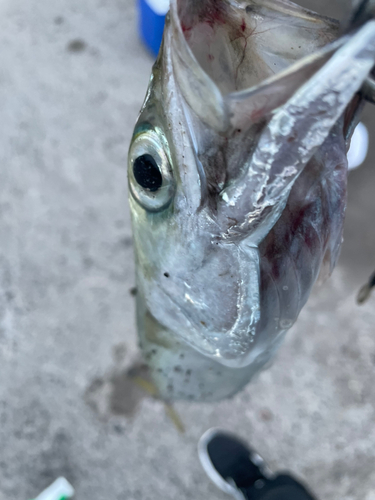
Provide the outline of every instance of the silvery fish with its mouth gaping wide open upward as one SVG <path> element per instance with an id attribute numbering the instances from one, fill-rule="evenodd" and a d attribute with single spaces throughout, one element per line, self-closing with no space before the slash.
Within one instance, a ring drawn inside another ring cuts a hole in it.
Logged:
<path id="1" fill-rule="evenodd" d="M 335 267 L 375 64 L 375 21 L 355 20 L 171 1 L 128 155 L 139 345 L 162 399 L 238 393 Z"/>

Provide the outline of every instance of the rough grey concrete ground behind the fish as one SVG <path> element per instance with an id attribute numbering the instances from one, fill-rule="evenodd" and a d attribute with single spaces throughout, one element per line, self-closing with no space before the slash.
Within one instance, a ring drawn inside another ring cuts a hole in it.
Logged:
<path id="1" fill-rule="evenodd" d="M 177 404 L 184 435 L 127 378 L 126 154 L 151 64 L 132 0 L 0 3 L 0 500 L 59 475 L 77 500 L 224 500 L 197 460 L 211 426 L 321 499 L 374 500 L 375 297 L 355 304 L 375 268 L 374 141 L 340 263 L 269 370 L 231 401 Z"/>

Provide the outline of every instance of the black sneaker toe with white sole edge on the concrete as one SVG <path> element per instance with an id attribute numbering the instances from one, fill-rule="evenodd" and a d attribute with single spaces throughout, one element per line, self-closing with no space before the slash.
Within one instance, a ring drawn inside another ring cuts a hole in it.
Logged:
<path id="1" fill-rule="evenodd" d="M 263 459 L 232 434 L 209 429 L 198 443 L 202 467 L 211 481 L 236 500 L 242 490 L 271 478 Z"/>

